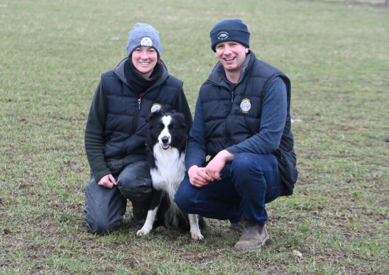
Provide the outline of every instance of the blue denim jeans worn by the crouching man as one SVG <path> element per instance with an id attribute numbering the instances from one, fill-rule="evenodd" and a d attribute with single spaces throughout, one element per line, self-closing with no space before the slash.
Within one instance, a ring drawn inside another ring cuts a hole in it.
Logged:
<path id="1" fill-rule="evenodd" d="M 229 219 L 242 218 L 264 225 L 265 203 L 282 193 L 277 158 L 271 154 L 241 153 L 222 169 L 222 179 L 203 187 L 190 184 L 186 174 L 175 195 L 178 207 L 189 214 Z"/>

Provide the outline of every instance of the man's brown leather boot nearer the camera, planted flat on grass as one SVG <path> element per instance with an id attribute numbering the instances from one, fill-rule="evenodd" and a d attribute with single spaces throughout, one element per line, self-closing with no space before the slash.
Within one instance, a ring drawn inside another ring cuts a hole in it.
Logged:
<path id="1" fill-rule="evenodd" d="M 257 249 L 270 240 L 264 225 L 255 221 L 244 221 L 244 230 L 241 238 L 235 244 L 235 251 Z"/>

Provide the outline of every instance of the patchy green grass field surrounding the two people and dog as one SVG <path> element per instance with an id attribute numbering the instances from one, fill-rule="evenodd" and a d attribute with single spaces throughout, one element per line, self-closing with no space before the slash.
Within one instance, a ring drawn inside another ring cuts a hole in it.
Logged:
<path id="1" fill-rule="evenodd" d="M 100 74 L 137 21 L 161 33 L 192 112 L 217 59 L 209 31 L 241 18 L 250 48 L 292 80 L 295 194 L 268 204 L 272 242 L 83 226 L 83 134 Z M 2 0 L 0 274 L 389 274 L 389 7 L 306 0 Z M 301 256 L 297 252 L 301 253 Z"/>

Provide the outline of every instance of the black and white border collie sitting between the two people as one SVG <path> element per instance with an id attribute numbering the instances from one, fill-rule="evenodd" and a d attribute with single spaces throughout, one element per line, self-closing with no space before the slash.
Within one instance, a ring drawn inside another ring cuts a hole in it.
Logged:
<path id="1" fill-rule="evenodd" d="M 136 235 L 148 235 L 153 226 L 155 231 L 169 227 L 183 230 L 190 228 L 192 239 L 201 240 L 204 237 L 200 232 L 199 221 L 200 226 L 204 227 L 204 219 L 183 213 L 173 201 L 186 172 L 187 133 L 184 115 L 159 110 L 151 113 L 146 122 L 149 127 L 146 145 L 149 149 L 148 165 L 153 190 L 145 224 Z"/>

